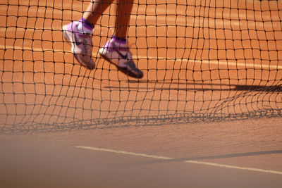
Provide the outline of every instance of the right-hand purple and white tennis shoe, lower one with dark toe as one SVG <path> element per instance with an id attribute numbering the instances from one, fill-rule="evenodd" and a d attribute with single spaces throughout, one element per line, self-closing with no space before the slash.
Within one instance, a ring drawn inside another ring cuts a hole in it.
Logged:
<path id="1" fill-rule="evenodd" d="M 121 70 L 125 75 L 135 78 L 143 77 L 143 72 L 136 67 L 126 44 L 118 44 L 114 39 L 110 39 L 99 49 L 99 54 L 116 65 L 118 70 Z"/>

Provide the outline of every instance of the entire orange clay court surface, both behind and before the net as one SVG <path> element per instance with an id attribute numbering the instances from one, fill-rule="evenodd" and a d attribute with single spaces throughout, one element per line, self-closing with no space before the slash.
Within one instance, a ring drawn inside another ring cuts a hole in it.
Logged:
<path id="1" fill-rule="evenodd" d="M 281 89 L 248 90 L 281 84 L 282 13 L 250 11 L 280 2 L 199 1 L 193 9 L 179 1 L 176 9 L 172 1 L 138 1 L 128 42 L 145 72 L 142 80 L 97 56 L 114 31 L 114 8 L 94 30 L 97 68 L 86 70 L 61 26 L 78 20 L 87 3 L 6 2 L 0 6 L 11 15 L 0 16 L 0 110 L 10 115 L 0 115 L 6 130 L 0 134 L 0 187 L 282 187 L 281 116 L 97 127 L 80 121 L 216 113 L 219 99 L 241 92 L 251 97 L 224 104 L 220 112 L 281 109 Z"/>

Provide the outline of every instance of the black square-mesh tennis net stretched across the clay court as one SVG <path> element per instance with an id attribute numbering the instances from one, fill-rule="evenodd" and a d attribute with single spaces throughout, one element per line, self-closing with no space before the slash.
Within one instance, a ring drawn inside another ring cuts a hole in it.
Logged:
<path id="1" fill-rule="evenodd" d="M 128 44 L 144 77 L 99 56 L 82 67 L 62 26 L 90 1 L 0 2 L 0 130 L 159 125 L 282 116 L 282 1 L 135 0 Z"/>

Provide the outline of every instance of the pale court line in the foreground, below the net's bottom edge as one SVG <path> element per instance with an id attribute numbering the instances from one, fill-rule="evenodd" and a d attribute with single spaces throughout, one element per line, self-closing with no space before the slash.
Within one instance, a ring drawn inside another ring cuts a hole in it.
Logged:
<path id="1" fill-rule="evenodd" d="M 142 157 L 147 157 L 147 158 L 156 158 L 156 159 L 161 159 L 161 160 L 173 160 L 176 158 L 171 158 L 171 157 L 165 157 L 165 156 L 154 156 L 154 155 L 148 155 L 145 153 L 135 153 L 135 152 L 128 152 L 128 151 L 121 151 L 121 150 L 114 150 L 114 149 L 104 149 L 104 148 L 97 148 L 97 147 L 90 147 L 90 146 L 73 146 L 74 148 L 79 148 L 79 149 L 88 149 L 88 150 L 95 150 L 95 151 L 105 151 L 105 152 L 110 152 L 110 153 L 120 153 L 120 154 L 125 154 L 125 155 L 130 155 L 130 156 L 142 156 Z M 210 166 L 216 166 L 220 168 L 233 168 L 237 170 L 249 170 L 249 171 L 255 171 L 259 173 L 270 173 L 270 174 L 276 174 L 276 175 L 282 175 L 281 171 L 276 171 L 276 170 L 264 170 L 264 169 L 259 169 L 259 168 L 247 168 L 247 167 L 241 167 L 241 166 L 235 166 L 235 165 L 223 165 L 220 163 L 209 163 L 209 162 L 204 162 L 204 161 L 182 161 L 183 163 L 195 163 L 195 164 L 200 164 L 200 165 L 210 165 Z"/>

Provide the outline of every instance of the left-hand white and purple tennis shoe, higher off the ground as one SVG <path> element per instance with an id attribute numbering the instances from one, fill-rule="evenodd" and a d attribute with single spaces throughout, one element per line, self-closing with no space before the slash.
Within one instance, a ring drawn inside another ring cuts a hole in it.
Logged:
<path id="1" fill-rule="evenodd" d="M 85 68 L 95 68 L 92 60 L 92 35 L 78 30 L 78 21 L 63 25 L 63 36 L 71 42 L 71 51 L 76 60 Z"/>

